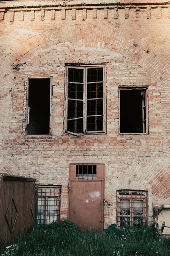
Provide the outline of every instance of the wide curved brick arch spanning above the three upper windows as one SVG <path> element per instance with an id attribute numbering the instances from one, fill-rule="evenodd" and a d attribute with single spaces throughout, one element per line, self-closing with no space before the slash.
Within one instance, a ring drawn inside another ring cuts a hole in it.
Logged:
<path id="1" fill-rule="evenodd" d="M 170 62 L 170 56 L 160 47 L 125 29 L 100 24 L 62 26 L 28 39 L 4 58 L 3 63 L 1 63 L 3 73 L 7 71 L 8 64 L 9 74 L 11 73 L 11 67 L 16 68 L 25 63 L 38 49 L 46 49 L 62 42 L 70 42 L 79 47 L 110 49 L 135 61 L 161 84 L 166 84 L 169 81 L 170 65 L 168 66 L 168 62 Z M 4 73 L 4 78 L 5 76 Z"/>

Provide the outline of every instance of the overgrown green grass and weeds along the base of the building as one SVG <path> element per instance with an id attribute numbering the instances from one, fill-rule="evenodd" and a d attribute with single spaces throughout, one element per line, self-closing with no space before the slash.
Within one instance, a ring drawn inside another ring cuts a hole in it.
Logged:
<path id="1" fill-rule="evenodd" d="M 170 256 L 170 239 L 153 227 L 117 230 L 111 225 L 101 235 L 82 231 L 72 222 L 32 227 L 17 247 L 4 256 Z"/>

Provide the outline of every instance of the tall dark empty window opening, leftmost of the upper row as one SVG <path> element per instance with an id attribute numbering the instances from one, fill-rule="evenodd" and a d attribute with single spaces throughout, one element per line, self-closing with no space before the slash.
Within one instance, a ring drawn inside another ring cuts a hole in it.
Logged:
<path id="1" fill-rule="evenodd" d="M 27 134 L 50 134 L 51 79 L 29 79 Z"/>

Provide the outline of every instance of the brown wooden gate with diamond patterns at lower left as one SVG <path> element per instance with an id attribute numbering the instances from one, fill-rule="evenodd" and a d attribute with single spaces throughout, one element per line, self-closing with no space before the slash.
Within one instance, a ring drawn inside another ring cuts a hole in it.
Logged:
<path id="1" fill-rule="evenodd" d="M 0 180 L 0 240 L 16 242 L 36 224 L 36 192 L 33 178 L 3 174 Z"/>

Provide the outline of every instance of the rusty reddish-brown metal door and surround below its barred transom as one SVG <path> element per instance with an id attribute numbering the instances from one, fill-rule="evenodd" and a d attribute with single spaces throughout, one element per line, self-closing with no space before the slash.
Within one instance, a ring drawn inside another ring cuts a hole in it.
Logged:
<path id="1" fill-rule="evenodd" d="M 93 179 L 83 175 L 77 178 L 76 166 L 71 164 L 70 168 L 69 221 L 82 229 L 93 228 L 102 232 L 104 165 L 96 165 Z"/>

